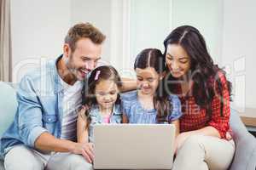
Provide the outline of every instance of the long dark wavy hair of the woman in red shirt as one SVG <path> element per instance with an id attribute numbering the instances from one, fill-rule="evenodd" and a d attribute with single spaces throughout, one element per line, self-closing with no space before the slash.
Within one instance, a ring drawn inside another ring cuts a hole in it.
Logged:
<path id="1" fill-rule="evenodd" d="M 212 99 L 215 95 L 220 96 L 221 115 L 223 114 L 224 97 L 222 94 L 223 88 L 228 88 L 231 96 L 231 82 L 227 81 L 227 87 L 223 87 L 219 73 L 225 76 L 225 71 L 220 69 L 218 65 L 214 65 L 210 54 L 207 51 L 207 44 L 204 37 L 193 26 L 179 26 L 173 30 L 165 39 L 165 53 L 169 44 L 180 45 L 189 55 L 190 58 L 190 73 L 194 82 L 192 95 L 195 98 L 195 103 L 202 108 L 207 109 L 207 114 L 212 115 Z M 170 74 L 171 80 L 175 80 Z M 209 80 L 213 80 L 213 83 Z M 216 83 L 217 82 L 217 83 Z M 217 87 L 214 87 L 217 84 Z M 175 85 L 169 86 L 172 91 Z M 217 91 L 215 89 L 217 88 Z M 231 99 L 231 98 L 230 98 Z M 222 115 L 223 116 L 223 115 Z"/>

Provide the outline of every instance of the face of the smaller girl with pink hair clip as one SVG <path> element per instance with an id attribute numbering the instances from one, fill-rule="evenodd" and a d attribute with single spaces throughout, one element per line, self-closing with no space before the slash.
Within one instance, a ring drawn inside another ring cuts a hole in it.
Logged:
<path id="1" fill-rule="evenodd" d="M 101 80 L 96 84 L 96 101 L 102 109 L 112 109 L 118 93 L 119 89 L 112 80 Z"/>

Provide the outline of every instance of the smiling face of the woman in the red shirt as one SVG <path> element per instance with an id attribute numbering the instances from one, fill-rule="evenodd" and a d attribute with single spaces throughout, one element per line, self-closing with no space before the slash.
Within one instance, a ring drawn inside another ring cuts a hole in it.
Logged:
<path id="1" fill-rule="evenodd" d="M 166 65 L 172 77 L 180 78 L 190 69 L 190 57 L 180 45 L 169 44 L 166 50 Z"/>

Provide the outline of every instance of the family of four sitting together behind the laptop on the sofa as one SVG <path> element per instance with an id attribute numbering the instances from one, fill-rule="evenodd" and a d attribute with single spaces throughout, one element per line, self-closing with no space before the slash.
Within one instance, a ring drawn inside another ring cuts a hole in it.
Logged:
<path id="1" fill-rule="evenodd" d="M 172 123 L 172 169 L 228 169 L 236 150 L 231 84 L 200 31 L 179 26 L 163 54 L 143 49 L 136 81 L 111 65 L 96 68 L 105 38 L 90 23 L 77 24 L 60 57 L 22 78 L 15 120 L 0 141 L 5 169 L 92 169 L 99 123 Z"/>

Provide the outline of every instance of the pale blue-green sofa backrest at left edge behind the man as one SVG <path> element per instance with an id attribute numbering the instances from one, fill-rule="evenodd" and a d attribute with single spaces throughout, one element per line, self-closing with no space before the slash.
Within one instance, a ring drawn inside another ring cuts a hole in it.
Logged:
<path id="1" fill-rule="evenodd" d="M 13 87 L 9 82 L 0 82 L 0 138 L 14 121 L 17 110 L 16 91 Z"/>

